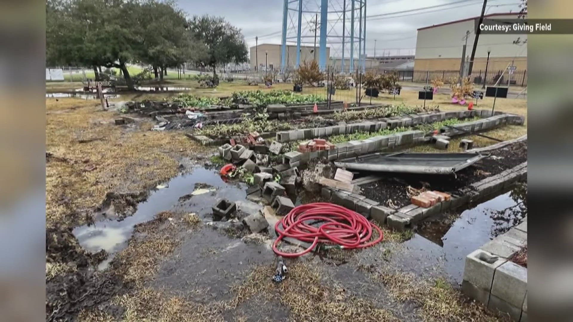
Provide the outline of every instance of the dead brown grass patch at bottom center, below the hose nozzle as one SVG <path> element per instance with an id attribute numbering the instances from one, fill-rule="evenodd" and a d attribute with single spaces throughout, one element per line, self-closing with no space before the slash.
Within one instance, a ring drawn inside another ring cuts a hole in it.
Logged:
<path id="1" fill-rule="evenodd" d="M 289 308 L 289 319 L 295 321 L 398 321 L 369 300 L 324 285 L 323 272 L 309 262 L 290 265 L 288 278 L 278 285 L 270 280 L 269 272 L 273 272 L 272 267 L 256 266 L 246 282 L 234 286 L 236 298 L 229 305 L 238 305 L 257 295 L 267 300 L 279 299 Z"/>

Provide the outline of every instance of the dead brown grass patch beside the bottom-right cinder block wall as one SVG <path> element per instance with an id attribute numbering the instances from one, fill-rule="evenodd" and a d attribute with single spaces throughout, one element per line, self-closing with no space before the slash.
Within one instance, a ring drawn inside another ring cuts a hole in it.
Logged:
<path id="1" fill-rule="evenodd" d="M 389 269 L 372 274 L 372 278 L 382 282 L 395 299 L 417 303 L 424 321 L 503 321 L 502 316 L 467 300 L 442 278 L 420 280 L 414 274 Z"/>

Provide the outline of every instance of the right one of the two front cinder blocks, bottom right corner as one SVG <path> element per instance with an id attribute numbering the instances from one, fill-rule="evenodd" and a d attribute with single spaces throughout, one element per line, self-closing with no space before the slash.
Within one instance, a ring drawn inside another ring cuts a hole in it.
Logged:
<path id="1" fill-rule="evenodd" d="M 527 268 L 508 261 L 496 269 L 492 295 L 521 311 L 525 292 L 527 292 Z"/>

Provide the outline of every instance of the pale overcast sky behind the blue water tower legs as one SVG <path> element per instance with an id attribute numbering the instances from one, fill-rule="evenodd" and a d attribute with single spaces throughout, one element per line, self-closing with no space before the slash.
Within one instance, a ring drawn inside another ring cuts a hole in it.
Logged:
<path id="1" fill-rule="evenodd" d="M 303 0 L 309 6 L 320 0 Z M 333 6 L 342 7 L 343 0 L 329 0 Z M 350 3 L 350 0 L 347 0 Z M 489 0 L 486 13 L 517 12 L 519 0 Z M 416 29 L 458 19 L 480 15 L 482 0 L 367 0 L 367 55 L 376 55 L 384 50 L 391 54 L 413 54 L 416 45 Z M 219 15 L 242 29 L 248 46 L 255 45 L 255 36 L 260 36 L 259 44 L 280 44 L 282 28 L 282 0 L 178 0 L 179 7 L 193 15 Z M 397 11 L 434 7 L 423 11 L 395 14 L 399 17 L 371 17 Z M 500 6 L 501 5 L 501 6 Z M 336 17 L 333 17 L 336 18 Z M 329 16 L 329 19 L 331 17 Z M 304 21 L 305 19 L 303 19 Z M 307 21 L 304 21 L 304 25 Z M 340 23 L 342 25 L 342 22 Z M 272 36 L 261 37 L 273 32 Z M 358 32 L 356 32 L 358 33 Z M 398 52 L 399 49 L 399 52 Z M 332 53 L 331 53 L 331 56 Z"/>

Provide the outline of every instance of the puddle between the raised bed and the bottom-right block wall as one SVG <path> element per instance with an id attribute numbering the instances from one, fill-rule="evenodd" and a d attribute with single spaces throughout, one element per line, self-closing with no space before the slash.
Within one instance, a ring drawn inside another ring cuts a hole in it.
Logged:
<path id="1" fill-rule="evenodd" d="M 496 211 L 515 205 L 516 201 L 510 197 L 510 193 L 499 195 L 463 211 L 453 222 L 446 220 L 426 223 L 418 229 L 414 238 L 404 244 L 416 251 L 431 253 L 430 257 L 441 257 L 445 261 L 445 272 L 461 283 L 465 257 L 497 234 L 515 225 L 509 211 L 506 211 L 504 216 L 500 216 Z"/>

